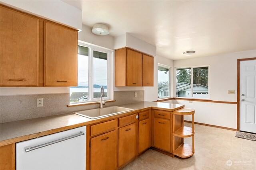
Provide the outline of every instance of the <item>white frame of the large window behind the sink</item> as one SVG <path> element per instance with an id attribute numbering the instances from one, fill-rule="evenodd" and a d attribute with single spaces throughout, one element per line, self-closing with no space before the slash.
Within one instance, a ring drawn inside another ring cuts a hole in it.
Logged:
<path id="1" fill-rule="evenodd" d="M 102 97 L 104 100 L 113 100 L 113 76 L 112 76 L 112 61 L 113 61 L 113 50 L 100 47 L 98 45 L 92 45 L 84 41 L 78 40 L 78 45 L 88 47 L 88 101 L 70 102 L 70 104 L 83 104 L 90 102 L 100 101 L 100 98 L 94 98 L 93 84 L 94 84 L 94 66 L 93 66 L 93 52 L 98 51 L 107 54 L 107 97 Z M 70 94 L 71 95 L 71 94 Z"/>

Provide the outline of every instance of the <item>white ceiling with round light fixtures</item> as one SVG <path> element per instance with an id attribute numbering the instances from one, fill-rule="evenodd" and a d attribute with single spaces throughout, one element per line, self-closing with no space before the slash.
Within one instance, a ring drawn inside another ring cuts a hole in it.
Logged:
<path id="1" fill-rule="evenodd" d="M 256 49 L 256 0 L 63 0 L 82 10 L 83 24 L 109 26 L 157 47 L 157 55 L 191 57 Z"/>

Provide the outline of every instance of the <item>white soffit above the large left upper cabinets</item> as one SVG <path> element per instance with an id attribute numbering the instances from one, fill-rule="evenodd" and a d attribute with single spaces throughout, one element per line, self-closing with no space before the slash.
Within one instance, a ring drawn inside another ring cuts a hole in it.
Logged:
<path id="1" fill-rule="evenodd" d="M 60 0 L 1 0 L 1 4 L 82 29 L 82 11 Z"/>

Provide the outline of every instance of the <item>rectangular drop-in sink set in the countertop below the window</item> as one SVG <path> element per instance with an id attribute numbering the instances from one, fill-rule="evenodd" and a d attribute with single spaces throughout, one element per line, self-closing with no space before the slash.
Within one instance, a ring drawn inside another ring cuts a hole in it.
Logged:
<path id="1" fill-rule="evenodd" d="M 127 111 L 132 111 L 132 110 L 134 109 L 112 106 L 112 107 L 104 107 L 102 109 L 90 109 L 90 110 L 84 110 L 84 111 L 77 111 L 73 113 L 80 116 L 88 117 L 90 119 L 97 119 L 100 117 L 108 117 L 108 116 L 117 115 Z"/>

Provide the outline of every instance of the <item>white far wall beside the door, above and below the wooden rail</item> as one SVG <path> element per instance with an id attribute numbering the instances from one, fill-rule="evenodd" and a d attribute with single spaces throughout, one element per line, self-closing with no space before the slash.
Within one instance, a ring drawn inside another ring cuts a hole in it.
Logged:
<path id="1" fill-rule="evenodd" d="M 200 57 L 176 60 L 174 68 L 186 66 L 210 65 L 209 92 L 210 100 L 236 102 L 237 97 L 237 59 L 256 57 L 256 50 L 241 51 L 210 57 Z M 174 73 L 174 81 L 176 81 Z M 228 90 L 235 90 L 235 94 L 228 94 Z M 236 129 L 236 104 L 220 104 L 210 102 L 188 103 L 185 100 L 172 100 L 171 103 L 184 104 L 196 110 L 195 121 L 210 125 Z M 191 118 L 185 117 L 185 120 Z"/>

